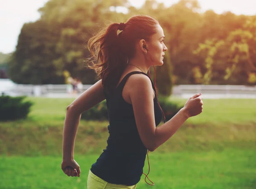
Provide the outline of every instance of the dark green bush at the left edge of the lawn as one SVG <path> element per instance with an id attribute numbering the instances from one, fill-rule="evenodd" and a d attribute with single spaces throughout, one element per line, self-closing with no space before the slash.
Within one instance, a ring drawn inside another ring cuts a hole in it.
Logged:
<path id="1" fill-rule="evenodd" d="M 24 102 L 25 96 L 0 96 L 0 121 L 24 119 L 30 111 L 32 102 Z"/>

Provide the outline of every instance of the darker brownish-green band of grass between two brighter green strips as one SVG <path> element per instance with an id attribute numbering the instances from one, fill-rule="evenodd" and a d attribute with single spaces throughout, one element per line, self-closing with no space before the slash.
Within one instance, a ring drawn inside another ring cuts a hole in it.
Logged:
<path id="1" fill-rule="evenodd" d="M 24 123 L 25 124 L 25 123 Z M 0 154 L 58 156 L 62 153 L 63 126 L 0 126 Z M 80 124 L 76 136 L 76 154 L 99 153 L 108 139 L 106 125 L 100 122 Z M 184 124 L 158 152 L 222 151 L 225 148 L 256 149 L 256 126 Z"/>

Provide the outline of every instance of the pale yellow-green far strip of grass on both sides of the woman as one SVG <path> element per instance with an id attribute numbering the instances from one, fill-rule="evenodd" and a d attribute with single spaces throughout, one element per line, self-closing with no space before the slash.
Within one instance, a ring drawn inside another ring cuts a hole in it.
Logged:
<path id="1" fill-rule="evenodd" d="M 29 97 L 35 105 L 29 114 L 29 120 L 42 123 L 63 123 L 67 106 L 73 98 L 38 98 Z M 184 106 L 186 99 L 170 100 Z M 256 99 L 205 99 L 204 111 L 195 117 L 190 117 L 188 122 L 194 124 L 205 123 L 256 123 Z"/>

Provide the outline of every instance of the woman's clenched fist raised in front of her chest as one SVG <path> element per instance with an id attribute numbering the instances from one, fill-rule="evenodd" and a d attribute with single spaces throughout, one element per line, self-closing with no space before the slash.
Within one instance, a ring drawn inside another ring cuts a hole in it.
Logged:
<path id="1" fill-rule="evenodd" d="M 183 108 L 187 114 L 187 117 L 196 116 L 203 112 L 203 97 L 202 94 L 195 94 L 190 97 Z"/>

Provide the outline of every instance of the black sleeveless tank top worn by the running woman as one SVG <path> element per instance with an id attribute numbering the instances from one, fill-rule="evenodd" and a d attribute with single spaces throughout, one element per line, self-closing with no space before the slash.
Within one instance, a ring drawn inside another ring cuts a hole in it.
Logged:
<path id="1" fill-rule="evenodd" d="M 147 149 L 137 130 L 132 105 L 122 97 L 126 80 L 132 74 L 148 76 L 143 72 L 130 72 L 125 75 L 111 95 L 105 92 L 109 117 L 108 145 L 90 169 L 93 174 L 108 183 L 127 186 L 135 185 L 140 181 L 147 155 Z M 156 93 L 152 80 L 151 83 Z M 156 126 L 158 126 L 163 115 L 156 95 L 154 97 L 154 116 Z"/>

